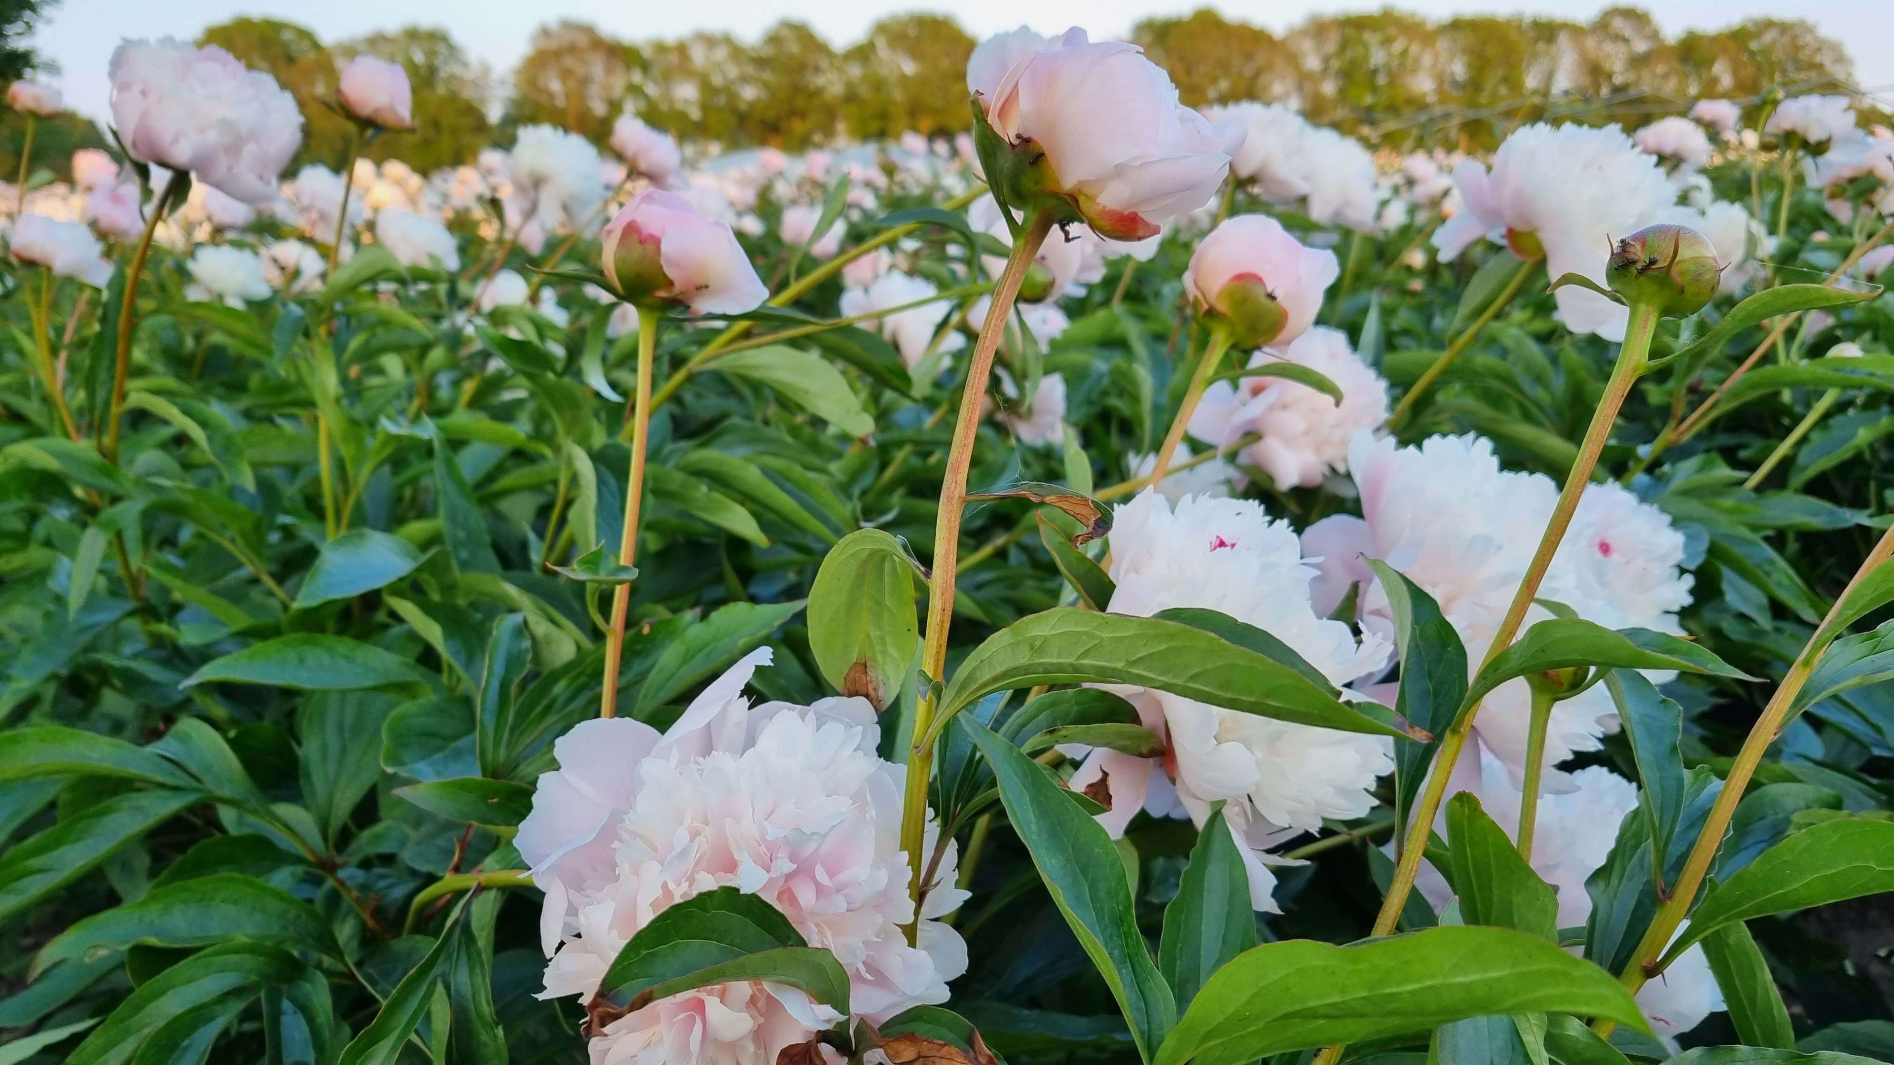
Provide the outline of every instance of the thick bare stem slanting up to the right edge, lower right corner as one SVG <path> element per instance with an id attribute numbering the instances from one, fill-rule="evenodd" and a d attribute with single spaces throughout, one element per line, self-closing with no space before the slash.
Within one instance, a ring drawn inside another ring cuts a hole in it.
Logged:
<path id="1" fill-rule="evenodd" d="M 1881 540 L 1867 551 L 1862 559 L 1862 567 L 1854 570 L 1849 578 L 1849 586 L 1835 597 L 1835 605 L 1828 608 L 1828 616 L 1816 625 L 1814 635 L 1796 656 L 1796 661 L 1788 667 L 1782 677 L 1782 684 L 1769 697 L 1769 705 L 1763 707 L 1761 716 L 1750 728 L 1750 735 L 1742 741 L 1742 749 L 1737 752 L 1735 762 L 1729 766 L 1729 773 L 1724 777 L 1724 788 L 1716 794 L 1716 802 L 1710 805 L 1710 815 L 1703 822 L 1703 832 L 1697 834 L 1697 843 L 1689 849 L 1689 858 L 1684 862 L 1684 872 L 1678 874 L 1676 883 L 1671 889 L 1671 896 L 1665 898 L 1657 915 L 1652 919 L 1650 929 L 1644 930 L 1644 938 L 1638 942 L 1638 949 L 1631 959 L 1631 965 L 1619 976 L 1619 982 L 1633 993 L 1644 985 L 1646 980 L 1663 972 L 1663 968 L 1674 961 L 1665 953 L 1676 934 L 1678 925 L 1689 913 L 1691 902 L 1697 900 L 1697 889 L 1703 887 L 1705 874 L 1710 872 L 1710 862 L 1716 858 L 1718 847 L 1724 845 L 1724 834 L 1729 830 L 1729 819 L 1737 813 L 1737 803 L 1742 802 L 1742 792 L 1748 788 L 1750 777 L 1756 775 L 1756 767 L 1761 766 L 1763 754 L 1769 745 L 1780 735 L 1782 726 L 1788 722 L 1790 711 L 1796 707 L 1796 697 L 1801 695 L 1801 688 L 1809 682 L 1809 675 L 1814 671 L 1816 661 L 1828 652 L 1828 646 L 1835 642 L 1841 625 L 1835 625 L 1843 605 L 1849 601 L 1862 580 L 1871 572 L 1881 569 L 1894 557 L 1894 527 L 1888 527 L 1881 534 Z M 1593 1025 L 1600 1035 L 1610 1035 L 1610 1023 L 1599 1021 Z"/>

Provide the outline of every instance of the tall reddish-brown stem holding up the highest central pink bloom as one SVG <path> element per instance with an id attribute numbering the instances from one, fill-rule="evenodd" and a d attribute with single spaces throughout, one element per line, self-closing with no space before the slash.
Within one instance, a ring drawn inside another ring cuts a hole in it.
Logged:
<path id="1" fill-rule="evenodd" d="M 958 576 L 960 557 L 960 512 L 966 506 L 966 474 L 974 464 L 974 440 L 979 436 L 979 411 L 987 400 L 987 379 L 992 375 L 992 356 L 1000 349 L 1000 332 L 1013 313 L 1019 298 L 1019 284 L 1027 279 L 1027 267 L 1045 243 L 1053 227 L 1047 212 L 1027 216 L 1025 229 L 1013 243 L 1013 254 L 1006 260 L 1006 269 L 992 288 L 992 307 L 974 341 L 974 354 L 966 366 L 966 388 L 960 392 L 960 415 L 955 421 L 953 445 L 947 451 L 947 472 L 941 478 L 939 515 L 934 521 L 934 574 L 928 580 L 928 629 L 920 652 L 920 671 L 928 690 L 915 705 L 915 741 L 907 754 L 907 794 L 902 805 L 902 851 L 911 866 L 907 893 L 915 900 L 915 923 L 907 927 L 907 942 L 915 942 L 920 927 L 920 898 L 926 893 L 922 883 L 922 841 L 928 822 L 928 779 L 934 769 L 934 711 L 936 688 L 947 673 L 947 627 L 953 622 L 955 576 Z"/>

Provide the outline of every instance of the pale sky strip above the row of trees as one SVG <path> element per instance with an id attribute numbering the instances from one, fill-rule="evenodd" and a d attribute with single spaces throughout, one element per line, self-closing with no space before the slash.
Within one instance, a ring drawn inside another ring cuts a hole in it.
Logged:
<path id="1" fill-rule="evenodd" d="M 1619 0 L 1621 2 L 1621 0 Z M 1633 0 L 1636 2 L 1636 0 Z M 104 117 L 106 63 L 121 38 L 195 38 L 208 25 L 237 15 L 301 23 L 322 40 L 343 40 L 403 25 L 445 27 L 462 47 L 506 74 L 527 51 L 534 27 L 581 19 L 629 40 L 676 38 L 693 30 L 727 30 L 754 40 L 778 19 L 811 25 L 831 44 L 860 40 L 879 17 L 936 9 L 953 13 L 977 36 L 1021 23 L 1040 32 L 1072 25 L 1095 38 L 1123 36 L 1148 15 L 1180 15 L 1214 6 L 1233 19 L 1284 30 L 1314 13 L 1369 11 L 1379 0 L 63 0 L 42 23 L 36 45 L 59 63 L 53 81 L 74 110 Z M 1546 13 L 1591 19 L 1610 0 L 1394 0 L 1428 17 L 1458 13 Z M 1854 53 L 1860 85 L 1894 97 L 1894 0 L 1642 0 L 1669 34 L 1722 28 L 1754 15 L 1805 17 Z"/>

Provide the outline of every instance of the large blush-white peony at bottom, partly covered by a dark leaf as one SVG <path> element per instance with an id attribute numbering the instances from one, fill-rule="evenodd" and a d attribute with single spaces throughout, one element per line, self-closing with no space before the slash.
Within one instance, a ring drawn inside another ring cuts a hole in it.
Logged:
<path id="1" fill-rule="evenodd" d="M 665 733 L 597 718 L 553 745 L 515 845 L 545 891 L 542 999 L 597 991 L 617 951 L 669 906 L 737 887 L 782 912 L 849 974 L 869 1023 L 945 1002 L 966 968 L 960 936 L 936 921 L 966 898 L 949 841 L 920 912 L 900 849 L 905 767 L 875 756 L 866 699 L 750 707 L 742 688 L 769 648 L 746 656 Z M 932 849 L 938 826 L 928 828 Z M 659 999 L 593 1042 L 593 1061 L 775 1061 L 841 1020 L 797 991 L 744 982 Z M 661 1057 L 653 1057 L 661 1054 Z"/>

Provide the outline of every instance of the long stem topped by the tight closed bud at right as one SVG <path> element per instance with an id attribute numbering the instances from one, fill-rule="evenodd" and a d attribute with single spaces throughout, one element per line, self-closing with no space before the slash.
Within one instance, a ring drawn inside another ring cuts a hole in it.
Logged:
<path id="1" fill-rule="evenodd" d="M 1532 563 L 1527 567 L 1527 574 L 1519 582 L 1519 589 L 1513 591 L 1513 601 L 1506 608 L 1506 616 L 1500 620 L 1500 627 L 1492 635 L 1492 644 L 1487 648 L 1487 656 L 1479 663 L 1481 669 L 1511 646 L 1513 637 L 1519 635 L 1527 610 L 1532 606 L 1532 597 L 1538 595 L 1540 582 L 1546 580 L 1546 570 L 1551 569 L 1553 553 L 1559 551 L 1559 540 L 1564 538 L 1566 527 L 1572 525 L 1572 514 L 1578 512 L 1578 500 L 1585 493 L 1585 485 L 1591 483 L 1591 472 L 1599 464 L 1599 453 L 1604 451 L 1604 440 L 1610 438 L 1612 424 L 1617 421 L 1617 407 L 1625 404 L 1625 396 L 1631 394 L 1631 385 L 1635 385 L 1638 375 L 1644 371 L 1644 360 L 1650 356 L 1652 337 L 1657 334 L 1657 307 L 1653 305 L 1631 305 L 1631 324 L 1625 328 L 1625 343 L 1617 349 L 1617 364 L 1612 368 L 1612 379 L 1604 385 L 1604 396 L 1599 400 L 1599 409 L 1591 413 L 1591 424 L 1585 428 L 1585 440 L 1578 447 L 1578 460 L 1572 462 L 1572 470 L 1564 478 L 1564 489 L 1559 493 L 1559 504 L 1553 508 L 1551 521 L 1546 525 L 1546 532 L 1540 536 L 1540 546 L 1532 553 Z M 1439 815 L 1439 803 L 1447 798 L 1447 781 L 1453 775 L 1453 767 L 1460 762 L 1460 752 L 1466 749 L 1466 741 L 1474 733 L 1474 718 L 1477 714 L 1479 703 L 1470 707 L 1462 705 L 1455 714 L 1455 722 L 1447 730 L 1447 735 L 1441 737 L 1426 786 L 1420 790 L 1420 802 L 1415 805 L 1413 819 L 1407 822 L 1407 838 L 1402 841 L 1400 858 L 1394 864 L 1394 879 L 1388 883 L 1388 894 L 1381 900 L 1381 913 L 1375 917 L 1375 930 L 1371 932 L 1375 936 L 1392 934 L 1402 910 L 1407 906 L 1407 894 L 1415 887 L 1415 874 L 1420 872 L 1420 858 L 1426 855 L 1428 834 L 1434 832 L 1434 819 Z M 1341 1057 L 1341 1046 L 1324 1048 L 1322 1054 L 1314 1057 L 1313 1065 L 1333 1065 L 1333 1061 Z"/>

